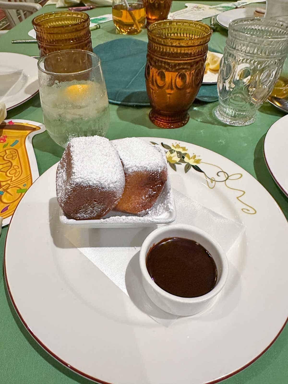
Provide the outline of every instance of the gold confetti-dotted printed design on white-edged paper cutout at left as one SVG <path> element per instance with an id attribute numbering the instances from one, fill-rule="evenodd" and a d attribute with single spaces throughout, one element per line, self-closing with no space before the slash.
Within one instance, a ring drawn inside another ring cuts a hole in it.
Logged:
<path id="1" fill-rule="evenodd" d="M 10 217 L 26 190 L 32 174 L 25 140 L 40 127 L 27 123 L 0 125 L 0 216 Z"/>

